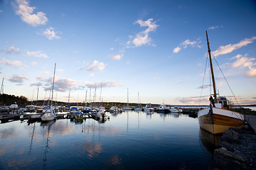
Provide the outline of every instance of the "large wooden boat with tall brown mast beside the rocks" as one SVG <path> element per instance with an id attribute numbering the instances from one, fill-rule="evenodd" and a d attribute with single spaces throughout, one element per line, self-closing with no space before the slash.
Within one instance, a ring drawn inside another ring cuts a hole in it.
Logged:
<path id="1" fill-rule="evenodd" d="M 213 135 L 221 135 L 229 128 L 242 128 L 244 125 L 245 116 L 240 113 L 230 111 L 227 98 L 219 95 L 217 96 L 207 31 L 206 38 L 214 94 L 209 98 L 210 106 L 198 111 L 198 121 L 201 129 L 206 130 L 206 132 L 210 132 Z"/>

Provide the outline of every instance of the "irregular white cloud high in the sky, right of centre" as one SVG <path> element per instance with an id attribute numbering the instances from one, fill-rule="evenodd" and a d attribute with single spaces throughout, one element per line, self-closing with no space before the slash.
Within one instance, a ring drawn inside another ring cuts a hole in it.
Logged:
<path id="1" fill-rule="evenodd" d="M 147 21 L 137 20 L 134 24 L 138 23 L 140 27 L 148 27 L 146 30 L 141 31 L 133 36 L 129 36 L 132 38 L 132 43 L 135 45 L 134 47 L 140 47 L 142 45 L 150 45 L 151 38 L 149 37 L 149 33 L 156 30 L 159 25 L 156 25 L 156 22 L 152 22 L 153 18 L 149 18 Z M 131 41 L 126 42 L 127 47 L 130 47 Z"/>

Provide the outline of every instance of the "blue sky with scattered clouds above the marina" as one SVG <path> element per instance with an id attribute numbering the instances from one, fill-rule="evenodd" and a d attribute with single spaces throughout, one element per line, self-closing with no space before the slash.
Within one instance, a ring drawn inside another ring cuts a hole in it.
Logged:
<path id="1" fill-rule="evenodd" d="M 57 101 L 208 105 L 207 30 L 220 96 L 256 104 L 255 18 L 250 0 L 1 0 L 2 90 L 50 98 L 56 63 Z"/>

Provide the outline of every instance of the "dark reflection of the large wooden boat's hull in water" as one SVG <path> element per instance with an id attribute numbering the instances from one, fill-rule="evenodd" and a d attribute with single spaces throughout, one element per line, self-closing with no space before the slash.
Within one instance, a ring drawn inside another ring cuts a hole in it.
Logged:
<path id="1" fill-rule="evenodd" d="M 199 139 L 201 144 L 211 153 L 214 152 L 214 149 L 217 147 L 218 142 L 220 141 L 221 135 L 212 135 L 204 130 L 199 130 Z"/>

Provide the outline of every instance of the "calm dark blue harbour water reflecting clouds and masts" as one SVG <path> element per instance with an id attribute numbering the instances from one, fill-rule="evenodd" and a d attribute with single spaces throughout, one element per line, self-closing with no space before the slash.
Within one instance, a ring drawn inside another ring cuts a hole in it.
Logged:
<path id="1" fill-rule="evenodd" d="M 0 124 L 0 169 L 208 169 L 213 145 L 197 118 L 107 114 L 105 123 Z"/>

